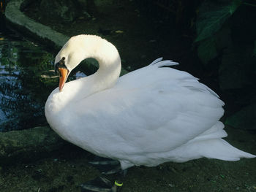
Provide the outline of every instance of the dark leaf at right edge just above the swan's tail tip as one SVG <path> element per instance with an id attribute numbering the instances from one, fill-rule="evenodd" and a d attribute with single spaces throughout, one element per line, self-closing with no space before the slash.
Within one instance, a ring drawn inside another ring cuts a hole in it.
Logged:
<path id="1" fill-rule="evenodd" d="M 256 103 L 249 104 L 225 120 L 225 125 L 235 128 L 256 129 Z"/>

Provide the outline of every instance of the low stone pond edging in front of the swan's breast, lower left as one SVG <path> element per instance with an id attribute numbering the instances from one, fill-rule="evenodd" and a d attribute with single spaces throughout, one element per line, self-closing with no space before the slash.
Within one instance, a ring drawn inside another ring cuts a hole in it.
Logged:
<path id="1" fill-rule="evenodd" d="M 35 161 L 50 156 L 66 144 L 49 127 L 0 132 L 0 164 Z"/>

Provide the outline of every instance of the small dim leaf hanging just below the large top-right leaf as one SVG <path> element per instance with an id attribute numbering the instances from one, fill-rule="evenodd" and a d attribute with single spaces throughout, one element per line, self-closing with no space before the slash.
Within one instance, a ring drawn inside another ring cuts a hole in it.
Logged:
<path id="1" fill-rule="evenodd" d="M 208 61 L 211 59 L 216 58 L 218 53 L 215 45 L 215 39 L 208 38 L 200 42 L 199 46 L 197 47 L 197 55 L 205 65 L 208 64 Z"/>

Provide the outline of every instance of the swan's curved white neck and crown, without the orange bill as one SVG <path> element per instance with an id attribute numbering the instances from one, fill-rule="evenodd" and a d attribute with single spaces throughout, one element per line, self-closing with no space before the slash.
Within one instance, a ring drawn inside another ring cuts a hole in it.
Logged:
<path id="1" fill-rule="evenodd" d="M 72 38 L 69 41 L 71 40 Z M 65 55 L 68 62 L 67 67 L 71 71 L 80 64 L 80 61 L 86 58 L 95 58 L 99 63 L 99 69 L 89 77 L 67 82 L 61 92 L 56 88 L 48 98 L 48 100 L 50 99 L 48 103 L 55 103 L 56 111 L 67 107 L 74 101 L 85 99 L 94 93 L 112 88 L 121 72 L 120 56 L 116 47 L 110 42 L 100 37 L 86 35 L 81 36 L 77 43 L 74 42 L 76 40 L 73 39 L 72 44 L 67 42 L 64 45 L 56 56 L 56 61 Z M 49 108 L 50 106 L 46 104 L 45 107 Z"/>

